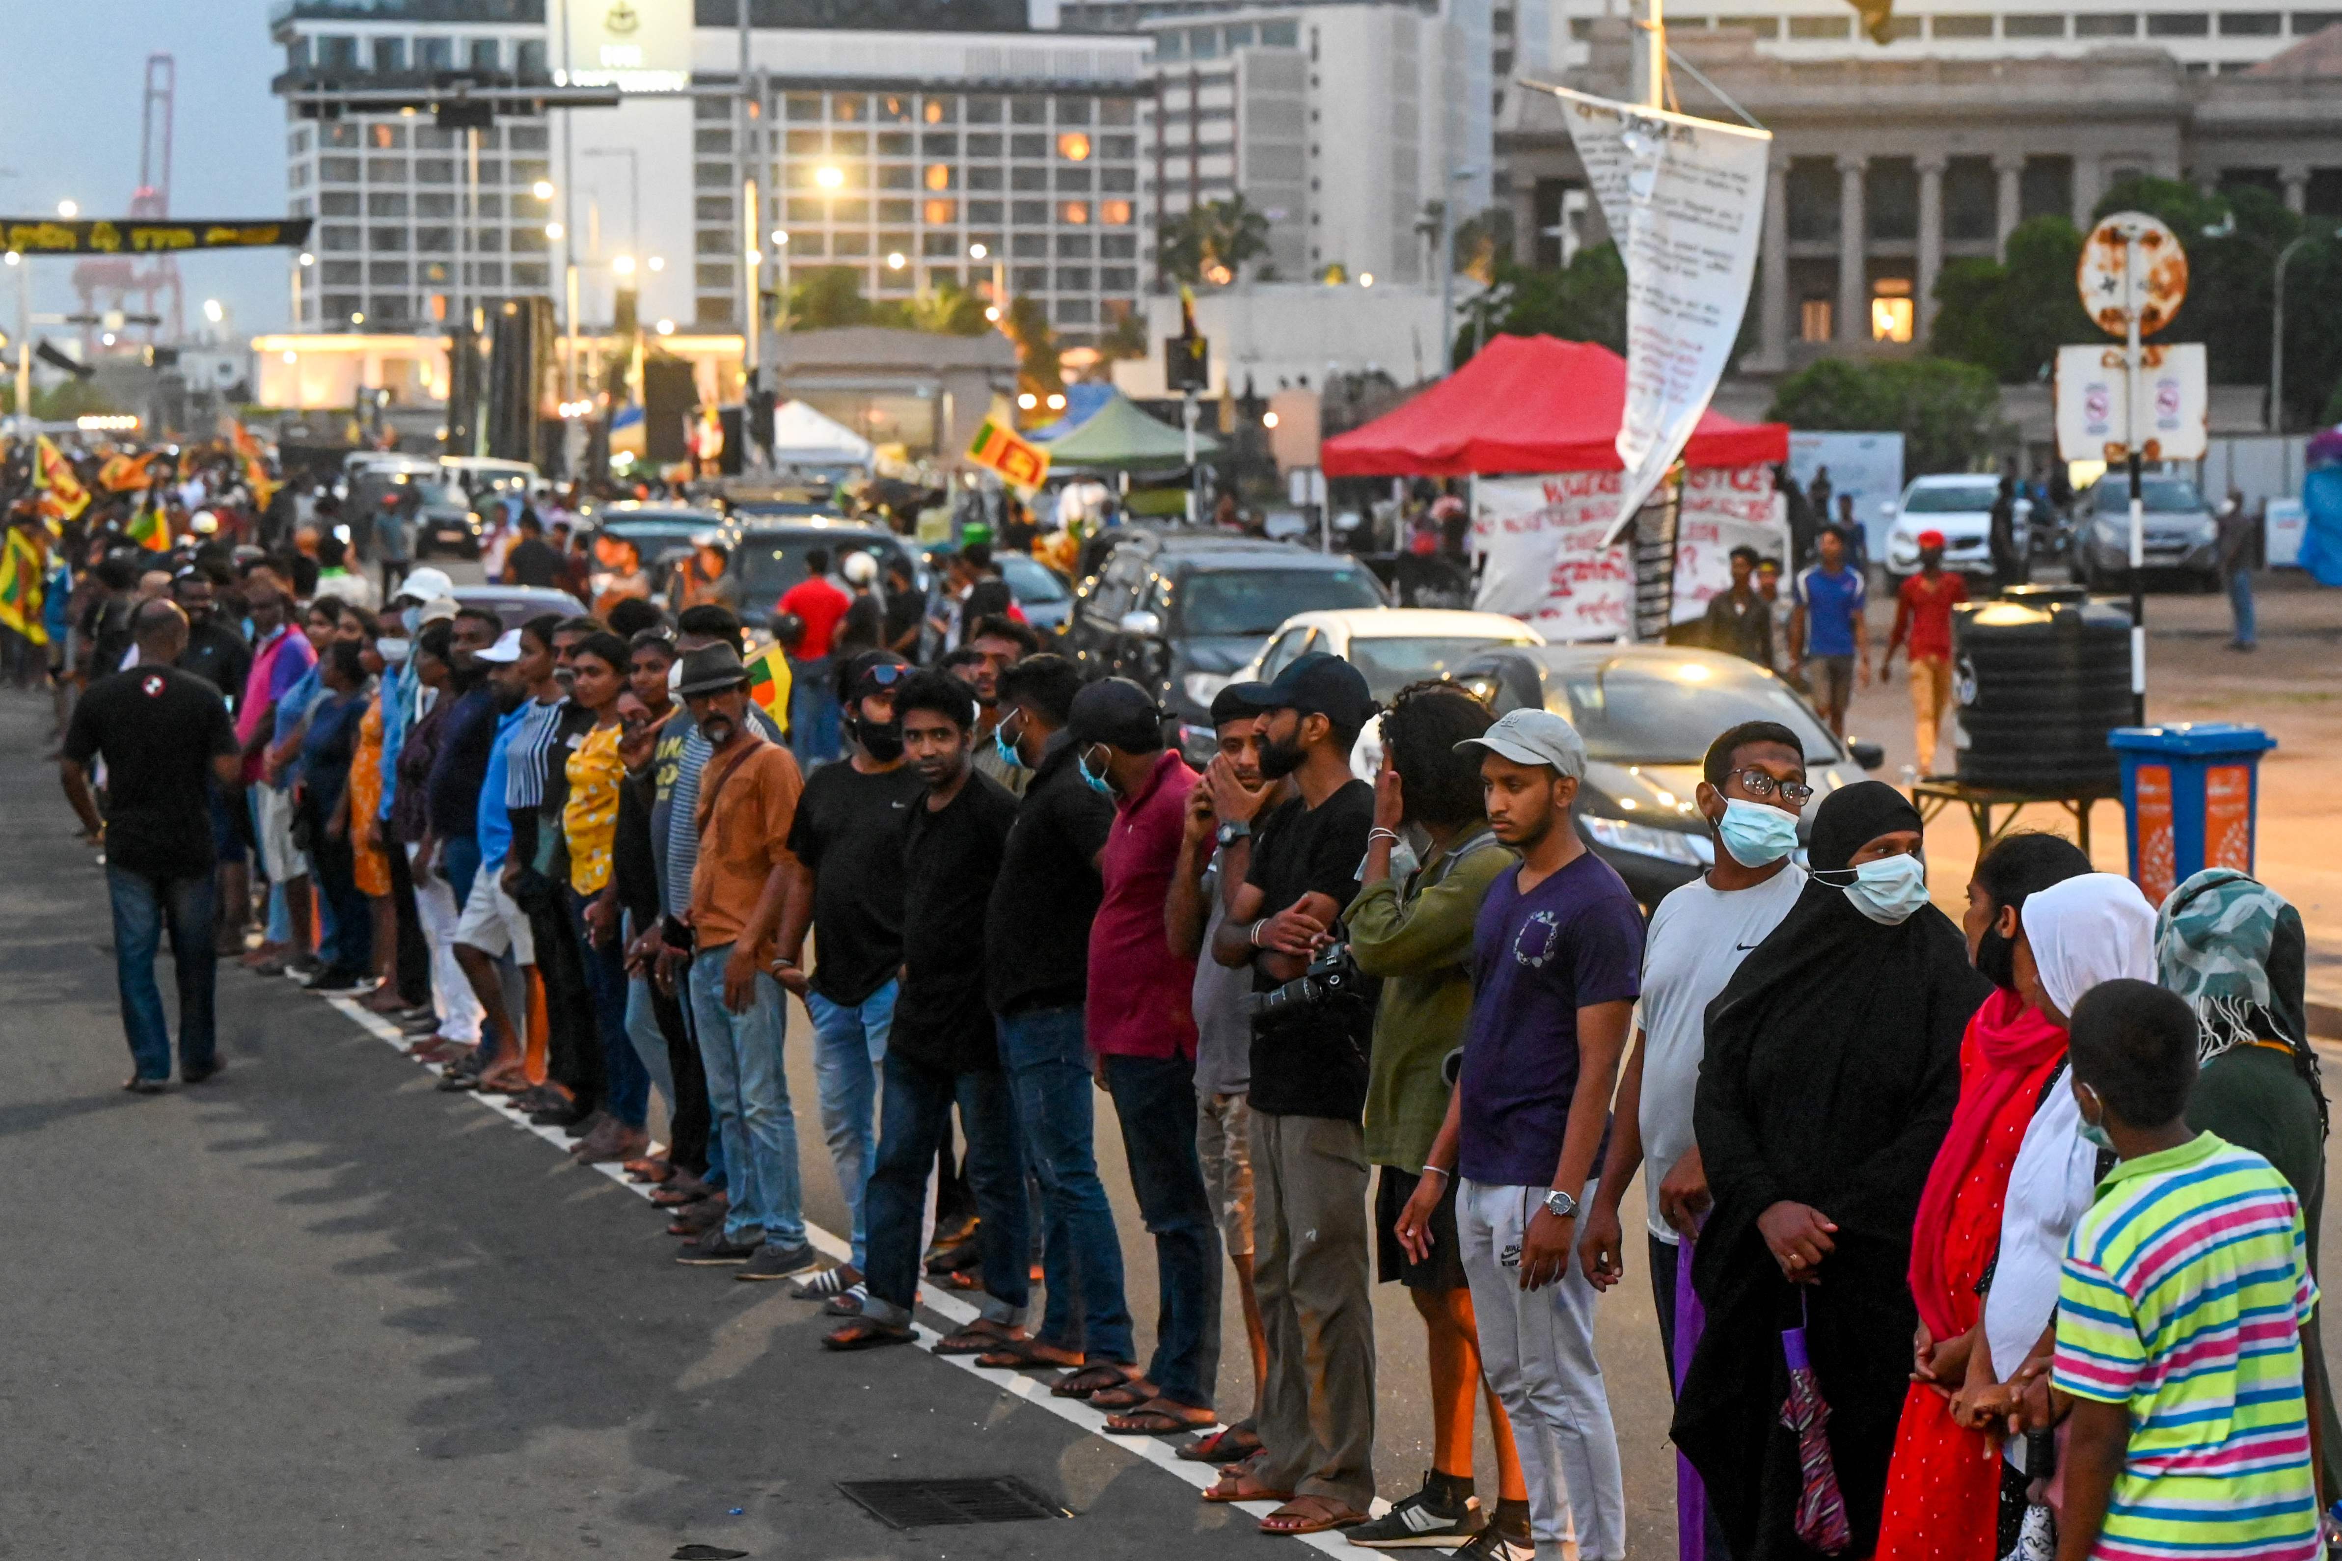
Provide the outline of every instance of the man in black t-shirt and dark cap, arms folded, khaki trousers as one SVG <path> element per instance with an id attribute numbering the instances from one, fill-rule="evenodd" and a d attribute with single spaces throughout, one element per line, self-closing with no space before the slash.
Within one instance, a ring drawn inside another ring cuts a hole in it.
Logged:
<path id="1" fill-rule="evenodd" d="M 1253 969 L 1253 1285 L 1269 1381 L 1255 1416 L 1265 1456 L 1215 1491 L 1290 1491 L 1260 1526 L 1307 1533 L 1363 1521 L 1375 1500 L 1361 1128 L 1375 1004 L 1363 988 L 1333 999 L 1297 988 L 1358 892 L 1375 789 L 1349 772 L 1349 751 L 1375 702 L 1356 667 L 1323 653 L 1232 693 L 1262 711 L 1260 772 L 1290 775 L 1300 796 L 1255 819 L 1248 838 L 1220 835 L 1227 920 L 1211 957 Z"/>

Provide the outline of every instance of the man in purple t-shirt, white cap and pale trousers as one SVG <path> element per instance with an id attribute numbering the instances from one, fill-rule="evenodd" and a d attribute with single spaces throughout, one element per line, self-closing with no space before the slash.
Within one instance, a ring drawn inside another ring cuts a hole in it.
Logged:
<path id="1" fill-rule="evenodd" d="M 1459 1177 L 1480 1364 L 1522 1439 L 1536 1554 L 1560 1554 L 1574 1528 L 1586 1561 L 1621 1561 L 1618 1435 L 1595 1360 L 1595 1290 L 1571 1247 L 1639 992 L 1642 910 L 1571 824 L 1586 742 L 1569 721 L 1515 709 L 1457 747 L 1480 749 L 1490 831 L 1520 866 L 1480 901 L 1464 1070 L 1398 1240 L 1424 1261 L 1440 1180 Z M 1475 1554 L 1532 1556 L 1504 1538 Z"/>

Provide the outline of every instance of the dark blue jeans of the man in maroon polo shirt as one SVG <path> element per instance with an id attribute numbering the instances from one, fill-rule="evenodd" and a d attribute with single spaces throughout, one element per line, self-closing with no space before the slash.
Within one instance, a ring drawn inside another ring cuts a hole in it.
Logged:
<path id="1" fill-rule="evenodd" d="M 1103 1058 L 1138 1215 L 1155 1238 L 1155 1360 L 1148 1381 L 1211 1409 L 1220 1381 L 1220 1229 L 1194 1154 L 1194 1063 Z"/>

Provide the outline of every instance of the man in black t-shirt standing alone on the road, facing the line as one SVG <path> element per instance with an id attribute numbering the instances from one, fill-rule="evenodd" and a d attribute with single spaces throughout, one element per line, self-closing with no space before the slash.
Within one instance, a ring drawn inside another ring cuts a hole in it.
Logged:
<path id="1" fill-rule="evenodd" d="M 155 1095 L 171 1077 L 171 1030 L 155 985 L 164 927 L 178 969 L 178 1077 L 199 1084 L 220 1072 L 208 789 L 239 784 L 241 754 L 220 690 L 171 665 L 187 648 L 187 616 L 171 601 L 148 601 L 131 616 L 131 634 L 141 665 L 82 693 L 59 775 L 82 831 L 105 843 L 122 1030 L 136 1060 L 124 1088 Z M 94 758 L 105 761 L 105 819 L 89 791 Z"/>

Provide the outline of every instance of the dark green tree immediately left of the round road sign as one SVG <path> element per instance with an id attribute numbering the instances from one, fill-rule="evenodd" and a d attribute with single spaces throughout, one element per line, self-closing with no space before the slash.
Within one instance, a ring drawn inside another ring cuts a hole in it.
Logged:
<path id="1" fill-rule="evenodd" d="M 1986 370 L 2000 384 L 2040 379 L 2056 349 L 2091 342 L 2073 271 L 2082 234 L 2066 218 L 2033 218 L 2009 232 L 2007 260 L 1965 257 L 1934 283 L 1930 351 Z"/>

